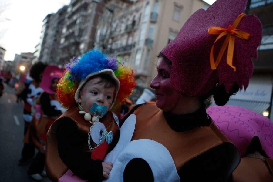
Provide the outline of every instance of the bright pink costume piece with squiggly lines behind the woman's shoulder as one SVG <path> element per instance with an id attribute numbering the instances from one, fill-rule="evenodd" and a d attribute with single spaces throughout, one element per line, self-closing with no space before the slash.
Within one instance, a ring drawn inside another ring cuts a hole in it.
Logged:
<path id="1" fill-rule="evenodd" d="M 241 152 L 243 157 L 254 136 L 260 140 L 262 150 L 273 157 L 272 121 L 261 114 L 239 106 L 211 106 L 207 108 L 215 125 Z"/>

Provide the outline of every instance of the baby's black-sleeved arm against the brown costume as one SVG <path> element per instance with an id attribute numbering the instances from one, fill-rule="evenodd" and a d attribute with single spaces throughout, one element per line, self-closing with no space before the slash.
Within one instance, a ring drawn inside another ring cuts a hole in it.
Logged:
<path id="1" fill-rule="evenodd" d="M 87 142 L 87 138 L 77 130 L 74 121 L 64 118 L 58 126 L 56 137 L 59 156 L 74 174 L 86 180 L 103 180 L 103 161 L 93 160 L 91 153 L 83 151 L 82 143 Z"/>

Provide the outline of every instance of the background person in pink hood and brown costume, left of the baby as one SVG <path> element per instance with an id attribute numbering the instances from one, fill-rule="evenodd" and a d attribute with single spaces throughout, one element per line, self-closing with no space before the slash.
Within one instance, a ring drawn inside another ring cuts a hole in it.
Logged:
<path id="1" fill-rule="evenodd" d="M 40 83 L 43 93 L 35 103 L 35 114 L 27 131 L 29 137 L 25 137 L 31 140 L 38 149 L 38 153 L 27 171 L 27 174 L 34 180 L 42 180 L 42 177 L 46 176 L 44 170 L 46 133 L 51 124 L 66 111 L 56 95 L 57 83 L 62 77 L 63 71 L 64 69 L 55 65 L 49 65 L 45 68 Z"/>

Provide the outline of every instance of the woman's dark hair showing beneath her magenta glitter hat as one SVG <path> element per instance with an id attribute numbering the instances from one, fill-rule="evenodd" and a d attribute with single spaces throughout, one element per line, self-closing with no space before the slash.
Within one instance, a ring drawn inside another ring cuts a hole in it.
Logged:
<path id="1" fill-rule="evenodd" d="M 172 67 L 172 62 L 170 61 L 170 59 L 168 59 L 161 52 L 157 55 L 157 58 L 163 58 L 167 62 L 169 67 L 170 68 Z M 205 94 L 204 96 L 201 96 L 199 100 L 201 103 L 204 103 L 206 106 L 209 106 L 211 104 L 210 98 L 213 95 L 215 104 L 218 106 L 224 106 L 228 102 L 229 97 L 231 95 L 236 94 L 239 91 L 239 89 L 240 88 L 238 84 L 235 82 L 233 87 L 227 93 L 224 84 L 219 85 L 217 83 L 209 93 Z"/>

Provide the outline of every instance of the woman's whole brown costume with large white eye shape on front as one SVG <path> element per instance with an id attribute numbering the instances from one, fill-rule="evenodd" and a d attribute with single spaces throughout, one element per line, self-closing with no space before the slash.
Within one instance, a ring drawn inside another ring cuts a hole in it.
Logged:
<path id="1" fill-rule="evenodd" d="M 132 146 L 130 143 L 137 142 L 137 140 L 140 141 L 141 139 L 150 139 L 162 144 L 170 153 L 174 161 L 174 167 L 176 168 L 177 173 L 182 167 L 185 166 L 185 164 L 191 163 L 191 160 L 194 160 L 202 154 L 207 153 L 218 146 L 222 146 L 223 144 L 225 145 L 227 151 L 224 150 L 223 153 L 219 153 L 216 155 L 224 156 L 224 158 L 230 159 L 230 161 L 227 163 L 227 166 L 223 168 L 223 170 L 225 169 L 224 173 L 226 177 L 230 176 L 230 174 L 237 167 L 240 161 L 240 154 L 237 147 L 233 143 L 231 143 L 230 140 L 228 140 L 227 137 L 224 136 L 220 130 L 217 129 L 213 122 L 211 122 L 209 126 L 201 126 L 185 132 L 176 132 L 172 128 L 170 128 L 164 117 L 163 111 L 159 109 L 155 104 L 144 104 L 142 106 L 139 106 L 136 110 L 133 110 L 132 114 L 136 115 L 136 124 L 133 131 L 133 136 L 131 138 L 131 142 L 129 142 L 128 144 L 124 144 L 124 146 L 117 145 L 117 148 L 114 148 L 113 150 L 114 152 L 110 152 L 105 158 L 105 160 L 108 161 L 108 159 L 110 159 L 110 162 L 113 162 L 113 168 L 109 175 L 109 181 L 120 180 L 121 178 L 123 178 L 120 175 L 127 176 L 125 171 L 126 169 L 128 169 L 127 167 L 128 165 L 130 165 L 131 161 L 133 161 L 132 159 L 139 157 L 143 160 L 146 160 L 145 152 L 141 153 L 140 150 L 137 154 L 134 153 L 132 155 L 129 155 L 130 147 L 129 150 L 127 147 Z M 125 123 L 121 126 L 120 137 L 122 138 L 120 138 L 120 140 L 123 140 L 123 132 L 125 133 L 128 130 L 126 128 L 129 127 L 128 123 L 133 122 L 133 120 L 134 117 L 129 116 L 125 120 Z M 147 146 L 147 148 L 148 147 L 149 146 Z M 157 151 L 154 152 L 157 153 Z M 150 154 L 148 154 L 148 156 L 149 155 Z M 221 158 L 221 160 L 225 160 L 224 158 Z M 113 159 L 113 161 L 111 161 L 111 159 Z M 218 157 L 218 159 L 220 158 Z M 203 160 L 199 161 L 200 163 L 202 163 Z M 146 162 L 150 165 L 150 169 L 153 171 L 152 176 L 158 179 L 158 176 L 162 174 L 157 172 L 154 173 L 154 171 L 158 171 L 155 169 L 155 167 L 157 168 L 157 161 L 153 160 L 149 162 L 146 160 Z M 132 170 L 135 171 L 141 166 L 142 165 L 139 165 L 136 168 L 130 168 L 130 171 L 127 170 L 127 172 L 131 173 Z M 159 164 L 159 166 L 162 165 Z M 119 174 L 119 171 L 123 171 L 123 167 L 125 167 L 124 173 Z M 169 168 L 170 165 L 166 164 L 166 167 Z M 164 169 L 161 170 L 164 171 Z M 180 178 L 181 181 L 183 181 L 183 176 L 180 176 Z"/>

